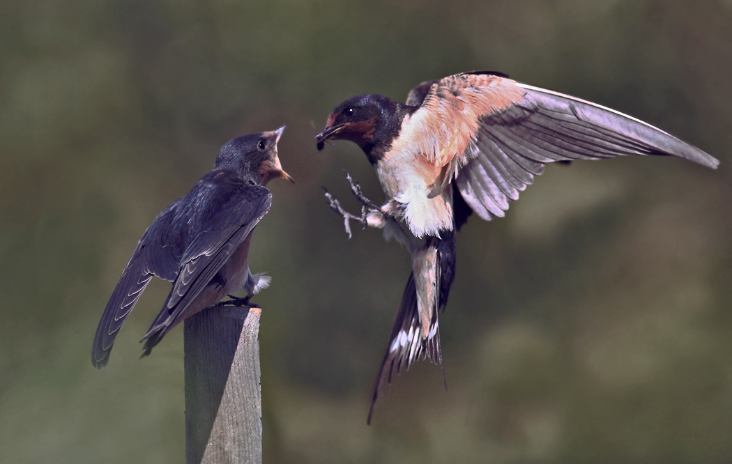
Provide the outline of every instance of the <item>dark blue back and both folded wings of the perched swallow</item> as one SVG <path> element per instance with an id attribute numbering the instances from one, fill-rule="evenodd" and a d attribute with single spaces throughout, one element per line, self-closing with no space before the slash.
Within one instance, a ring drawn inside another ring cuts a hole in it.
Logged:
<path id="1" fill-rule="evenodd" d="M 173 282 L 173 288 L 145 336 L 155 335 L 152 343 L 146 344 L 149 352 L 167 329 L 185 316 L 191 302 L 271 205 L 272 195 L 265 187 L 246 184 L 231 171 L 214 170 L 160 213 L 132 252 L 102 313 L 92 345 L 92 364 L 99 368 L 107 364 L 119 329 L 152 277 L 157 276 Z"/>

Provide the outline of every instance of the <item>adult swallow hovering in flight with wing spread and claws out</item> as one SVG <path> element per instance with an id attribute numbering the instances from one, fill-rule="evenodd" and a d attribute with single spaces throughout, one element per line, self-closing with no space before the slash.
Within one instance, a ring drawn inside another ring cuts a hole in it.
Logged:
<path id="1" fill-rule="evenodd" d="M 427 357 L 441 365 L 438 309 L 455 277 L 455 231 L 475 213 L 504 217 L 509 203 L 550 162 L 621 155 L 671 155 L 709 168 L 719 161 L 673 135 L 618 111 L 555 91 L 518 83 L 500 72 L 463 72 L 412 89 L 406 104 L 360 95 L 338 105 L 326 141 L 356 143 L 376 169 L 386 194 L 377 205 L 352 181 L 364 205 L 349 220 L 384 228 L 411 254 L 407 280 L 379 370 L 368 422 L 384 381 Z"/>

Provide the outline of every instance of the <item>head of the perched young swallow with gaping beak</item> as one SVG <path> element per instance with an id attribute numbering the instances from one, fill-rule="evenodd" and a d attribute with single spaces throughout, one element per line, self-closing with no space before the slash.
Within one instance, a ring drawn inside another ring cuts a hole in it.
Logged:
<path id="1" fill-rule="evenodd" d="M 243 177 L 258 185 L 266 185 L 278 177 L 294 183 L 294 179 L 283 170 L 280 157 L 277 156 L 277 142 L 284 130 L 285 126 L 226 142 L 216 157 L 215 165 L 234 167 Z"/>

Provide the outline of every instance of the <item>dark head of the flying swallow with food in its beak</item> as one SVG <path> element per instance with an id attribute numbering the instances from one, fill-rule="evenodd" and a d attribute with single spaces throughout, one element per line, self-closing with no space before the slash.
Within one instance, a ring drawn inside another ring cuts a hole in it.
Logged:
<path id="1" fill-rule="evenodd" d="M 342 139 L 356 143 L 369 154 L 397 109 L 397 102 L 381 95 L 359 95 L 346 100 L 330 113 L 325 129 L 315 136 L 318 150 L 323 149 L 326 141 Z"/>

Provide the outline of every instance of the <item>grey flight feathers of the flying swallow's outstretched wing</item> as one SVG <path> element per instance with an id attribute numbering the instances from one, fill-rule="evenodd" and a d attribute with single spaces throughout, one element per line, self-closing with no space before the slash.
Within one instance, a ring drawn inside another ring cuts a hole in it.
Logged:
<path id="1" fill-rule="evenodd" d="M 482 98 L 495 99 L 496 89 L 509 92 L 509 98 L 499 100 L 497 105 L 476 103 L 489 111 L 479 116 L 474 132 L 460 132 L 465 124 L 456 125 L 455 132 L 472 144 L 463 153 L 452 154 L 468 160 L 458 171 L 456 184 L 466 203 L 483 219 L 503 216 L 507 201 L 518 199 L 518 192 L 531 184 L 534 176 L 541 175 L 550 162 L 666 155 L 709 168 L 719 165 L 714 157 L 668 132 L 585 100 L 500 76 L 484 76 L 481 81 L 474 74 L 456 75 L 449 82 L 460 93 L 460 86 L 474 90 L 477 83 L 489 78 L 493 90 L 479 88 Z M 515 90 L 522 94 L 518 99 Z M 436 91 L 427 94 L 423 107 L 430 98 L 437 98 Z M 430 108 L 439 111 L 440 107 L 433 103 Z M 470 114 L 464 112 L 466 117 Z"/>

